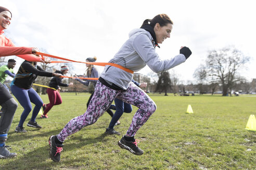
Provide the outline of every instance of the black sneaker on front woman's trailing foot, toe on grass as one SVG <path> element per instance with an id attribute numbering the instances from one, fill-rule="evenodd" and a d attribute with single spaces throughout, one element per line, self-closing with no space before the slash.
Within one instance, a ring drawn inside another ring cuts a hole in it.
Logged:
<path id="1" fill-rule="evenodd" d="M 60 152 L 63 150 L 62 147 L 64 145 L 56 144 L 55 139 L 56 135 L 50 136 L 49 137 L 49 146 L 50 146 L 50 158 L 54 162 L 59 162 L 60 161 Z"/>

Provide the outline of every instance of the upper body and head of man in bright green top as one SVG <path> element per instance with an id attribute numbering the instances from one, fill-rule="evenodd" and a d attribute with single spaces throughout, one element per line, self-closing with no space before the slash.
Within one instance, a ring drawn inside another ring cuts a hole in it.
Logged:
<path id="1" fill-rule="evenodd" d="M 16 65 L 16 61 L 14 59 L 8 60 L 7 65 L 2 65 L 0 67 L 0 82 L 4 84 L 5 79 L 9 75 L 10 77 L 14 77 L 14 67 Z"/>

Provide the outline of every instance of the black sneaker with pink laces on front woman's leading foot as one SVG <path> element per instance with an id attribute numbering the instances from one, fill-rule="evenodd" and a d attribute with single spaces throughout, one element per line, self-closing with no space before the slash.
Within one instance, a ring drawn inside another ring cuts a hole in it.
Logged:
<path id="1" fill-rule="evenodd" d="M 124 139 L 124 136 L 123 136 L 122 139 L 120 141 L 118 141 L 118 145 L 122 149 L 129 150 L 133 154 L 142 155 L 143 154 L 143 150 L 140 149 L 138 147 L 138 145 L 137 145 L 139 143 L 139 141 L 140 140 L 138 140 L 138 139 L 134 139 L 134 141 L 127 141 L 127 140 Z"/>

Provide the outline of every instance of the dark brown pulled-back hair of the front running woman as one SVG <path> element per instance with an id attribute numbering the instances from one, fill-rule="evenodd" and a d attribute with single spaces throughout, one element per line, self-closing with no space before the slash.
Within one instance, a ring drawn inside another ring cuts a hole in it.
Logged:
<path id="1" fill-rule="evenodd" d="M 173 24 L 172 20 L 168 17 L 168 15 L 162 13 L 162 14 L 159 14 L 157 15 L 156 17 L 154 17 L 153 19 L 146 19 L 142 26 L 144 25 L 151 25 L 152 27 L 155 27 L 155 25 L 159 23 L 160 26 L 165 26 L 167 25 L 168 23 L 170 24 Z"/>

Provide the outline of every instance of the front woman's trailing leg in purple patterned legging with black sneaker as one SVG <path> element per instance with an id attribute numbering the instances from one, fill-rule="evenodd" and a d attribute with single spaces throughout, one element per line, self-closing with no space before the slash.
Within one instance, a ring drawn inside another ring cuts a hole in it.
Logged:
<path id="1" fill-rule="evenodd" d="M 60 151 L 62 150 L 63 146 L 62 142 L 69 135 L 80 131 L 87 125 L 95 123 L 111 105 L 114 98 L 116 98 L 116 95 L 116 90 L 112 90 L 98 81 L 95 87 L 94 95 L 86 112 L 81 116 L 71 119 L 58 135 L 51 136 L 49 138 L 50 158 L 52 158 L 52 160 L 55 162 L 59 162 Z"/>

